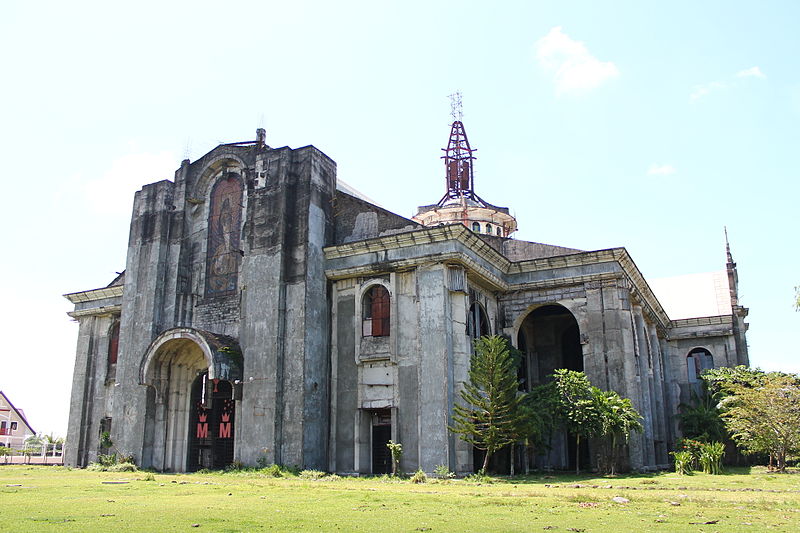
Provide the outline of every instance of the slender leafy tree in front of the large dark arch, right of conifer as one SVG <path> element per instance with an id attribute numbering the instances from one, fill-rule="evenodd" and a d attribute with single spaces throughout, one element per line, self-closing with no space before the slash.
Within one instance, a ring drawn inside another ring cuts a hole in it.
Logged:
<path id="1" fill-rule="evenodd" d="M 575 472 L 580 473 L 581 439 L 588 439 L 601 430 L 597 404 L 589 378 L 583 372 L 558 369 L 553 373 L 558 412 L 569 433 L 575 435 Z"/>

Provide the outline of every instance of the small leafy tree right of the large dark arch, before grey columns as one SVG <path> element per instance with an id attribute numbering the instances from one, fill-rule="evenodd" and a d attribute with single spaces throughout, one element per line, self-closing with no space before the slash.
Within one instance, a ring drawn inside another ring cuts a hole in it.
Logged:
<path id="1" fill-rule="evenodd" d="M 597 434 L 610 445 L 608 471 L 616 474 L 618 449 L 627 443 L 633 431 L 642 431 L 642 417 L 629 398 L 622 398 L 614 391 L 603 391 L 592 387 L 594 411 L 597 413 Z"/>

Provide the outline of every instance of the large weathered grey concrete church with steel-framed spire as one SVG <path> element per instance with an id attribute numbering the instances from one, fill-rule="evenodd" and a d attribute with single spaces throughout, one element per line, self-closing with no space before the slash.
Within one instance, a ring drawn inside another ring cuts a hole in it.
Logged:
<path id="1" fill-rule="evenodd" d="M 498 333 L 525 353 L 523 390 L 570 368 L 631 398 L 644 432 L 629 464 L 657 468 L 699 371 L 748 363 L 730 252 L 708 278 L 711 316 L 672 316 L 624 248 L 515 240 L 509 209 L 475 192 L 461 121 L 446 193 L 412 219 L 337 184 L 313 146 L 265 141 L 259 129 L 145 185 L 125 272 L 66 295 L 79 324 L 66 464 L 105 453 L 108 431 L 164 471 L 263 458 L 381 473 L 392 439 L 404 471 L 471 472 L 447 426 L 472 339 Z M 569 448 L 557 436 L 530 466 L 566 468 Z"/>

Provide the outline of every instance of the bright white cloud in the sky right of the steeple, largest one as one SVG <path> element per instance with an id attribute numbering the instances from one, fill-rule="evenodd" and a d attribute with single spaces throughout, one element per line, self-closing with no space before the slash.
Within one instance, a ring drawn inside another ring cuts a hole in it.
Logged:
<path id="1" fill-rule="evenodd" d="M 594 57 L 584 43 L 563 33 L 560 26 L 536 41 L 535 50 L 539 64 L 553 73 L 559 94 L 588 91 L 619 76 L 614 63 Z"/>

